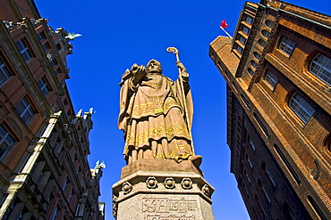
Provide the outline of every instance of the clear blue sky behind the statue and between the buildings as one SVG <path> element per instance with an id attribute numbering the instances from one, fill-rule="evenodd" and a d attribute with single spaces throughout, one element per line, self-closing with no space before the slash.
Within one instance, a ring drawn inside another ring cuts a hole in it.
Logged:
<path id="1" fill-rule="evenodd" d="M 133 63 L 151 59 L 162 63 L 164 74 L 177 78 L 173 53 L 191 77 L 194 102 L 193 141 L 202 155 L 200 168 L 216 191 L 212 208 L 217 219 L 250 219 L 230 174 L 230 151 L 226 145 L 225 80 L 208 57 L 208 46 L 226 20 L 233 35 L 245 1 L 211 0 L 35 0 L 42 17 L 53 28 L 64 28 L 82 36 L 72 41 L 68 56 L 67 80 L 76 112 L 93 107 L 94 128 L 90 133 L 89 166 L 100 159 L 106 163 L 101 180 L 100 201 L 106 202 L 106 220 L 112 216 L 112 185 L 120 179 L 123 160 L 123 133 L 117 129 L 119 111 L 118 83 Z M 258 1 L 252 1 L 257 3 Z M 331 14 L 327 0 L 291 0 L 317 12 Z"/>

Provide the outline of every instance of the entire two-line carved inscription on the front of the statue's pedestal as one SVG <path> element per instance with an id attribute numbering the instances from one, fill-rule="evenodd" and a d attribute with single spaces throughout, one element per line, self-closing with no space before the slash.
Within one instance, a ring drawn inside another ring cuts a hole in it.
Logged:
<path id="1" fill-rule="evenodd" d="M 168 198 L 142 198 L 142 212 L 150 220 L 196 219 L 191 212 L 198 210 L 197 200 L 172 200 Z M 158 215 L 152 215 L 158 214 Z"/>

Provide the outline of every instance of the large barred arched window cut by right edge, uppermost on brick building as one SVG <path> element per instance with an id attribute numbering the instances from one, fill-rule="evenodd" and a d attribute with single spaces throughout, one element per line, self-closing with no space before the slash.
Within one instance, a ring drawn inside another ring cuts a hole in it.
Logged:
<path id="1" fill-rule="evenodd" d="M 331 86 L 331 59 L 318 53 L 310 62 L 310 72 Z"/>

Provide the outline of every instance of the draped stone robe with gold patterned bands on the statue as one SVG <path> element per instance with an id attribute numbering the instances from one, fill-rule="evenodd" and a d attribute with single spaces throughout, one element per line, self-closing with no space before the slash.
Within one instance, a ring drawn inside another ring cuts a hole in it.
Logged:
<path id="1" fill-rule="evenodd" d="M 138 86 L 133 86 L 132 77 L 123 77 L 118 127 L 124 132 L 123 154 L 128 164 L 137 159 L 180 162 L 192 155 L 183 102 L 191 122 L 191 90 L 188 77 L 182 78 L 185 97 L 179 80 L 159 73 L 148 74 Z"/>

